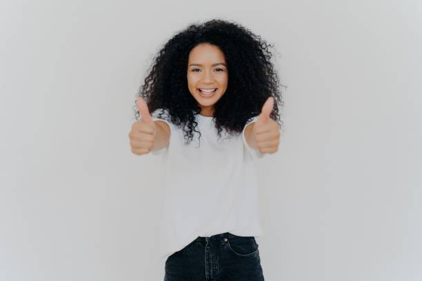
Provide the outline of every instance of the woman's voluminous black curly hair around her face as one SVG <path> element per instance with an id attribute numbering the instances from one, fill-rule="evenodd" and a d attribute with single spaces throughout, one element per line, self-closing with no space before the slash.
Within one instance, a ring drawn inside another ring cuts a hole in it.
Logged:
<path id="1" fill-rule="evenodd" d="M 146 101 L 150 113 L 167 110 L 169 121 L 184 127 L 189 142 L 192 131 L 198 132 L 194 115 L 199 114 L 201 108 L 188 90 L 187 72 L 190 50 L 200 43 L 217 45 L 227 62 L 228 87 L 214 104 L 213 119 L 219 137 L 223 128 L 229 134 L 242 132 L 245 124 L 261 113 L 263 103 L 270 96 L 274 98 L 270 117 L 281 127 L 279 106 L 283 106 L 283 101 L 279 77 L 271 62 L 270 48 L 274 46 L 239 23 L 221 19 L 189 25 L 174 34 L 154 57 L 137 94 Z M 136 101 L 133 108 L 139 120 Z"/>

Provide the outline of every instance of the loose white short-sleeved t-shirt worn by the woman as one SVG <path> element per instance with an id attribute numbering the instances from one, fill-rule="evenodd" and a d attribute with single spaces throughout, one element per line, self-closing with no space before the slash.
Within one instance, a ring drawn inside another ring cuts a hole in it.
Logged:
<path id="1" fill-rule="evenodd" d="M 159 118 L 159 113 L 163 113 Z M 230 232 L 261 236 L 257 176 L 252 159 L 263 158 L 240 134 L 221 132 L 212 117 L 195 115 L 194 138 L 185 144 L 184 132 L 159 109 L 152 120 L 170 126 L 170 142 L 152 155 L 163 155 L 164 192 L 159 220 L 159 256 L 163 260 L 198 236 Z M 199 141 L 201 143 L 199 143 Z"/>

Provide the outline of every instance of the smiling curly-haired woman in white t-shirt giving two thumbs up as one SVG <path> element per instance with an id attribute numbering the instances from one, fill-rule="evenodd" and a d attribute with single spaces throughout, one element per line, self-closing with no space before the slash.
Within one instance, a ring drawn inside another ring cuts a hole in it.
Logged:
<path id="1" fill-rule="evenodd" d="M 239 23 L 192 24 L 145 78 L 129 136 L 134 154 L 164 156 L 165 281 L 264 280 L 252 159 L 279 146 L 271 46 Z"/>

